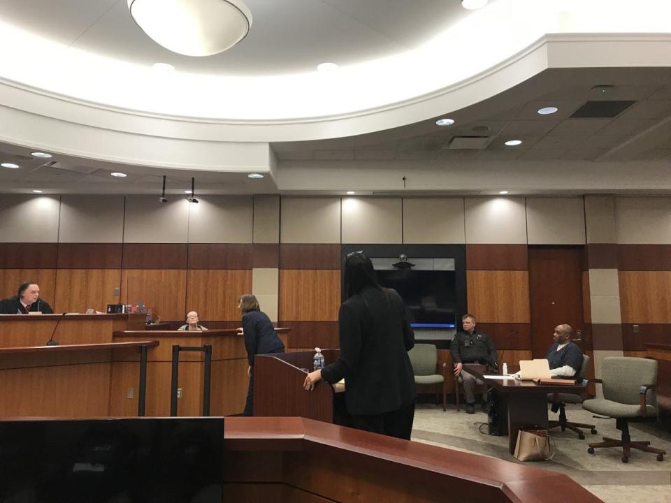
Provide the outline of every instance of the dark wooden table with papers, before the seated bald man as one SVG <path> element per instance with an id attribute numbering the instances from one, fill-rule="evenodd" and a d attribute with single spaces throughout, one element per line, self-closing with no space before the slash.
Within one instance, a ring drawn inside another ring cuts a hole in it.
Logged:
<path id="1" fill-rule="evenodd" d="M 547 394 L 548 393 L 584 393 L 584 384 L 574 386 L 562 384 L 535 384 L 533 381 L 519 379 L 487 379 L 489 374 L 469 369 L 468 372 L 482 379 L 487 386 L 493 388 L 501 402 L 499 414 L 507 418 L 508 451 L 515 452 L 519 428 L 536 425 L 547 428 Z"/>

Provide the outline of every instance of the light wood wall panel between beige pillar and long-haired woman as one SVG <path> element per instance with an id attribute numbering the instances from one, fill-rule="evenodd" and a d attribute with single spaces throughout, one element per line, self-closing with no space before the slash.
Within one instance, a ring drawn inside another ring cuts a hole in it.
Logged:
<path id="1" fill-rule="evenodd" d="M 280 319 L 336 321 L 340 270 L 280 270 Z"/>

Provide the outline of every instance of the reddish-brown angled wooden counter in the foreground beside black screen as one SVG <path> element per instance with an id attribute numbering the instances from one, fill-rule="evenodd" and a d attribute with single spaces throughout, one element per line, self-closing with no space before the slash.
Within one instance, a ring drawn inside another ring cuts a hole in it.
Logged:
<path id="1" fill-rule="evenodd" d="M 224 502 L 581 502 L 565 474 L 295 417 L 226 418 Z"/>

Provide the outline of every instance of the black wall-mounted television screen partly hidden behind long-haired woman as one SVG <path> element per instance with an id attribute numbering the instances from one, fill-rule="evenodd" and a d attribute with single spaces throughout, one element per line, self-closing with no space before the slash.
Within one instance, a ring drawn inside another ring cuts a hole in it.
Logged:
<path id="1" fill-rule="evenodd" d="M 405 302 L 413 328 L 454 328 L 456 308 L 453 270 L 376 270 L 377 281 L 396 290 Z"/>

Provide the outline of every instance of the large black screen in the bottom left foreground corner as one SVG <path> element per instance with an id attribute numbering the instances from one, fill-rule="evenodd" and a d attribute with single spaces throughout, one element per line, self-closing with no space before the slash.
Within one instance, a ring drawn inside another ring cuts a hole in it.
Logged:
<path id="1" fill-rule="evenodd" d="M 0 422 L 0 503 L 221 503 L 224 418 Z"/>

